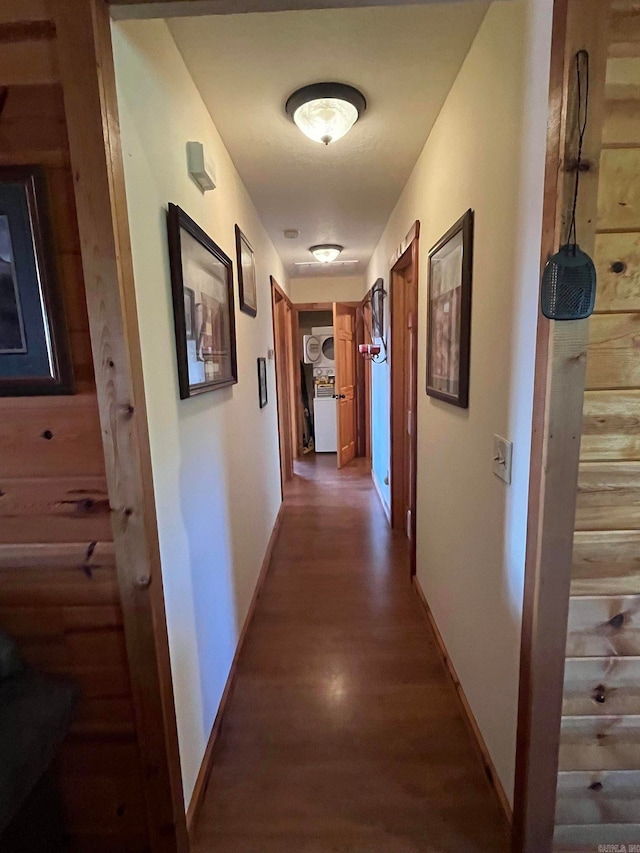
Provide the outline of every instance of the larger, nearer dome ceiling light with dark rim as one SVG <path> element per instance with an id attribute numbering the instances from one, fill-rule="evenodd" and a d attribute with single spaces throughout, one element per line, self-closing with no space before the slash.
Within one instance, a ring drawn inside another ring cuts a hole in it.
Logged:
<path id="1" fill-rule="evenodd" d="M 329 145 L 348 133 L 367 108 L 362 92 L 345 83 L 314 83 L 291 95 L 287 115 L 305 136 Z"/>

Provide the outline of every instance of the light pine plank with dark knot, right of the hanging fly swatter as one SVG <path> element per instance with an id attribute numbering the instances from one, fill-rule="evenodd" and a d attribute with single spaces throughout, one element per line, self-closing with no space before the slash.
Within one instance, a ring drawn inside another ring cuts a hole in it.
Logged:
<path id="1" fill-rule="evenodd" d="M 640 234 L 598 234 L 595 264 L 596 311 L 639 311 Z"/>

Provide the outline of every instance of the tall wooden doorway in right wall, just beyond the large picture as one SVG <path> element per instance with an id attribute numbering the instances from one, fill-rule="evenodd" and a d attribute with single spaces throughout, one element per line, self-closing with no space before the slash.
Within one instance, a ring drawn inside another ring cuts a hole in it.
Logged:
<path id="1" fill-rule="evenodd" d="M 416 222 L 391 268 L 391 526 L 411 543 L 416 570 L 418 253 Z"/>

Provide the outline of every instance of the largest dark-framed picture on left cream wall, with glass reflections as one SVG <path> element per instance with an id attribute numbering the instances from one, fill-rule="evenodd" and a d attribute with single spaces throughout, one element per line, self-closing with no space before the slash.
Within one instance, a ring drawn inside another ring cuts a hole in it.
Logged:
<path id="1" fill-rule="evenodd" d="M 175 204 L 169 205 L 169 261 L 180 398 L 238 381 L 233 266 Z"/>

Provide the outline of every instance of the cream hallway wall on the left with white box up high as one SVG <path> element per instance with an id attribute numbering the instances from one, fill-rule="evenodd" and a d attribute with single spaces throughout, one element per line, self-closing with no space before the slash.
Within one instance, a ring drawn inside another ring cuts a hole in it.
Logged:
<path id="1" fill-rule="evenodd" d="M 273 362 L 258 407 L 256 358 L 273 346 L 269 275 L 282 264 L 162 21 L 113 27 L 131 241 L 149 412 L 185 800 L 204 754 L 280 505 Z M 186 143 L 213 155 L 203 195 Z M 258 316 L 239 311 L 239 382 L 180 401 L 166 239 L 179 204 L 234 260 L 237 222 L 256 252 Z"/>

